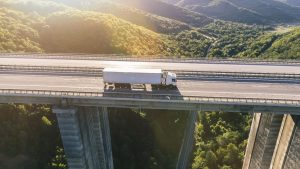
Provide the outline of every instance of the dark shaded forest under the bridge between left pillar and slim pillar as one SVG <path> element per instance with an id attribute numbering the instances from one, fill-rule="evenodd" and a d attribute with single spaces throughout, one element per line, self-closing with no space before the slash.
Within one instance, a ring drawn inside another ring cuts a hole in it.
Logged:
<path id="1" fill-rule="evenodd" d="M 110 109 L 115 168 L 174 169 L 187 112 Z"/>

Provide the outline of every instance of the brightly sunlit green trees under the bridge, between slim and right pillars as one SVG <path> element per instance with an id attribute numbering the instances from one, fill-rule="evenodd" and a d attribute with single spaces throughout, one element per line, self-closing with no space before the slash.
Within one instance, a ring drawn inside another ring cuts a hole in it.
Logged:
<path id="1" fill-rule="evenodd" d="M 192 169 L 240 169 L 251 126 L 247 113 L 200 113 Z"/>

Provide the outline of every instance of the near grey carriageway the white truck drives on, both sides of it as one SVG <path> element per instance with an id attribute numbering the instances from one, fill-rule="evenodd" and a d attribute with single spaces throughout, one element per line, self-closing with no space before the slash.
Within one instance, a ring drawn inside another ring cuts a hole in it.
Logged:
<path id="1" fill-rule="evenodd" d="M 130 91 L 129 89 L 117 91 L 183 96 L 300 100 L 299 84 L 179 80 L 178 90 L 150 91 L 149 88 L 148 86 L 149 91 Z M 104 84 L 100 77 L 92 76 L 0 74 L 0 89 L 103 92 Z M 109 90 L 109 92 L 111 91 Z"/>

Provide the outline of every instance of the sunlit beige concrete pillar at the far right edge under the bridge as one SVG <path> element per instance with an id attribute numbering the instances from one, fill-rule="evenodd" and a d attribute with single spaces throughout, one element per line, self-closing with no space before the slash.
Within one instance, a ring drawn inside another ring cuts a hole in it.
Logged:
<path id="1" fill-rule="evenodd" d="M 284 115 L 270 169 L 300 166 L 300 116 Z"/>

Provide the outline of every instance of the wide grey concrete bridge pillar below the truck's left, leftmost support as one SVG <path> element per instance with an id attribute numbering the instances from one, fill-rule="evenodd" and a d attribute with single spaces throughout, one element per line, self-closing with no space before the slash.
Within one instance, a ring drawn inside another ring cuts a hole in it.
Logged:
<path id="1" fill-rule="evenodd" d="M 100 111 L 99 111 L 100 110 Z M 69 169 L 113 169 L 106 108 L 53 108 Z"/>

